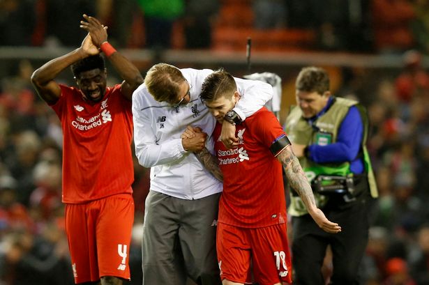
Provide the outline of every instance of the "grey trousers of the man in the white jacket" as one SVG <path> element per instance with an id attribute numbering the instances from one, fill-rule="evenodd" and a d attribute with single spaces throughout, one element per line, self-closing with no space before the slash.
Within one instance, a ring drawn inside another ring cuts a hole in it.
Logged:
<path id="1" fill-rule="evenodd" d="M 195 200 L 149 191 L 142 238 L 143 284 L 218 285 L 216 223 L 220 193 Z"/>

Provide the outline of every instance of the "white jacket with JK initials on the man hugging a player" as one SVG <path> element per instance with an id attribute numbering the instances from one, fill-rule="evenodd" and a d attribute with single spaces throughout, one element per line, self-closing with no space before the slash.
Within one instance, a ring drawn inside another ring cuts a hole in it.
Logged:
<path id="1" fill-rule="evenodd" d="M 206 148 L 213 153 L 216 119 L 200 100 L 204 79 L 213 70 L 181 69 L 189 82 L 190 102 L 174 108 L 167 102 L 157 102 L 142 84 L 133 93 L 135 155 L 143 167 L 151 167 L 151 187 L 180 199 L 201 199 L 222 191 L 222 183 L 214 178 L 194 153 L 181 144 L 181 134 L 188 125 L 199 126 L 209 137 Z M 236 80 L 242 95 L 234 111 L 246 118 L 273 97 L 273 88 L 264 82 Z"/>

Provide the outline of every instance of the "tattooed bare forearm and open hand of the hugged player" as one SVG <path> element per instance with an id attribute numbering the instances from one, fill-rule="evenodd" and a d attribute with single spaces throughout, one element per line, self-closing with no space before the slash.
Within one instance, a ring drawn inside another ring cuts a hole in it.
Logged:
<path id="1" fill-rule="evenodd" d="M 289 185 L 299 194 L 304 205 L 306 205 L 308 213 L 313 217 L 319 227 L 328 233 L 338 233 L 341 231 L 341 227 L 338 226 L 338 224 L 329 221 L 322 210 L 317 208 L 313 190 L 311 190 L 310 183 L 308 183 L 298 158 L 292 151 L 292 146 L 289 145 L 283 149 L 277 156 L 277 159 L 285 168 L 285 174 Z"/>

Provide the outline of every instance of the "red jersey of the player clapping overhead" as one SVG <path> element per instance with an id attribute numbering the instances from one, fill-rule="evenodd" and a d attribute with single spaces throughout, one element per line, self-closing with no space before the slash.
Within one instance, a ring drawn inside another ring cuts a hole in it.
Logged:
<path id="1" fill-rule="evenodd" d="M 132 193 L 133 114 L 121 86 L 108 87 L 97 103 L 84 100 L 77 88 L 60 86 L 52 109 L 63 128 L 63 202 Z"/>

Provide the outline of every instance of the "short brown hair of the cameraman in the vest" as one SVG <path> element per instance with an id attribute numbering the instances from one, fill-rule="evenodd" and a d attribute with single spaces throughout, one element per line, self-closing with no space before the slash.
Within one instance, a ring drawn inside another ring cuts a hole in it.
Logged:
<path id="1" fill-rule="evenodd" d="M 299 91 L 317 92 L 322 95 L 329 91 L 328 72 L 315 66 L 303 68 L 296 77 L 295 88 Z"/>

